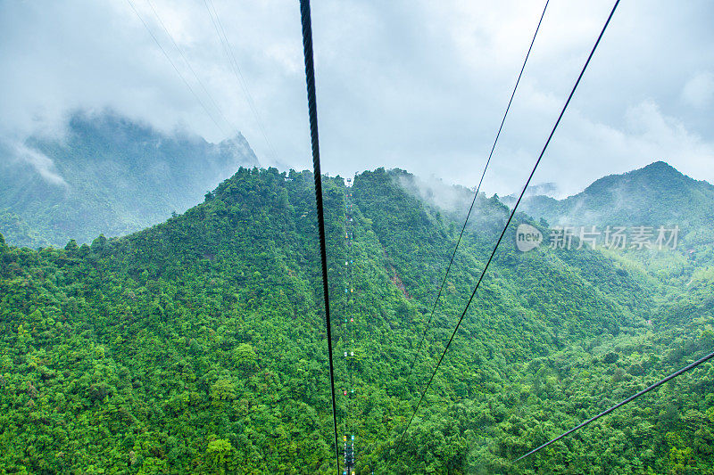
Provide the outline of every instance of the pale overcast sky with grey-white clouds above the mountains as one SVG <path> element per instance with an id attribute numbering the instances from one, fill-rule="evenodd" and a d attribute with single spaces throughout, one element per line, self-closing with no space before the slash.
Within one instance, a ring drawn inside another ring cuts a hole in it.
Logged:
<path id="1" fill-rule="evenodd" d="M 57 133 L 68 111 L 109 107 L 212 142 L 238 129 L 264 165 L 311 167 L 296 0 L 213 0 L 264 134 L 210 2 L 131 3 L 200 99 L 128 0 L 0 0 L 4 140 Z M 313 1 L 323 172 L 399 167 L 477 184 L 543 6 Z M 610 8 L 551 1 L 486 175 L 489 194 L 522 186 Z M 566 195 L 655 160 L 714 183 L 713 23 L 706 0 L 623 0 L 534 184 Z"/>

